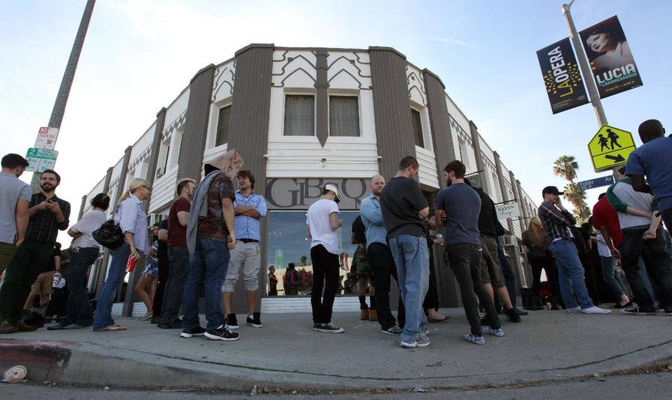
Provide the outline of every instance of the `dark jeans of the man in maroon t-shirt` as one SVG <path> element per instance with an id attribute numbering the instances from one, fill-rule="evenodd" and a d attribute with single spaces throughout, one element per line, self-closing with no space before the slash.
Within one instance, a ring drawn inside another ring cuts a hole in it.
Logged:
<path id="1" fill-rule="evenodd" d="M 168 246 L 168 281 L 163 301 L 161 322 L 169 323 L 177 319 L 182 305 L 182 295 L 189 275 L 189 249 L 180 246 Z"/>

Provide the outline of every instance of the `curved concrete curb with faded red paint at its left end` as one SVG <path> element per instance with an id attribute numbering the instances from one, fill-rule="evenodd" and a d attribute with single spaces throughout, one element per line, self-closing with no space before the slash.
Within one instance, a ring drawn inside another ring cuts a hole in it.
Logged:
<path id="1" fill-rule="evenodd" d="M 366 389 L 408 390 L 418 386 L 433 389 L 502 387 L 609 375 L 642 366 L 661 364 L 670 359 L 672 359 L 672 341 L 566 368 L 388 379 L 227 365 L 91 343 L 0 340 L 0 368 L 4 371 L 10 366 L 24 365 L 28 369 L 29 380 L 135 389 L 188 387 L 233 392 L 248 392 L 255 385 L 283 390 L 315 389 L 339 392 Z M 580 361 L 577 359 L 577 362 Z"/>

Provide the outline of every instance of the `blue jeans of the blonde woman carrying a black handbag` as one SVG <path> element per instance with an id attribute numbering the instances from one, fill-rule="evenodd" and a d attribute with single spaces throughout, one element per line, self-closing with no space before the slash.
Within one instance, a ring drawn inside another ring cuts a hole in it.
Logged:
<path id="1" fill-rule="evenodd" d="M 93 317 L 94 331 L 114 325 L 112 305 L 114 304 L 114 298 L 117 296 L 117 291 L 126 276 L 126 263 L 130 254 L 131 247 L 126 242 L 120 247 L 110 250 L 112 261 L 110 261 L 110 268 L 107 271 L 107 278 L 105 279 L 103 289 L 98 295 L 96 314 Z"/>

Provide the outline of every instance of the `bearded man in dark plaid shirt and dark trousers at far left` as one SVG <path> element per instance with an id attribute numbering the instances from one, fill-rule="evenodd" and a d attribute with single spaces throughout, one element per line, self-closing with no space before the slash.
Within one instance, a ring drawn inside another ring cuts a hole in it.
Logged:
<path id="1" fill-rule="evenodd" d="M 22 242 L 7 266 L 5 282 L 0 289 L 0 333 L 34 331 L 20 321 L 23 303 L 37 275 L 53 254 L 58 230 L 69 224 L 70 203 L 56 196 L 61 177 L 54 170 L 45 170 L 40 179 L 42 191 L 31 196 L 26 240 Z"/>

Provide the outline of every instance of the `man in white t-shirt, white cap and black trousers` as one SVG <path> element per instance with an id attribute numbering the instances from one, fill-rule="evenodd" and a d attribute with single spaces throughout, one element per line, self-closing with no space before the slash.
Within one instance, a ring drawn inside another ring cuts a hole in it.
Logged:
<path id="1" fill-rule="evenodd" d="M 324 333 L 343 333 L 345 330 L 331 323 L 331 312 L 338 288 L 338 233 L 343 221 L 338 219 L 338 189 L 334 184 L 322 188 L 320 200 L 308 209 L 308 236 L 310 258 L 313 263 L 313 287 L 310 305 L 313 309 L 313 330 Z M 324 296 L 322 296 L 324 289 Z"/>

